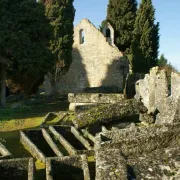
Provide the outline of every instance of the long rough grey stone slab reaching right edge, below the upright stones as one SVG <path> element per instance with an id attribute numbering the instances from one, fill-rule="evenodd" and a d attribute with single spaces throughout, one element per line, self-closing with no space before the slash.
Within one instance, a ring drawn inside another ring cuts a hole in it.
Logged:
<path id="1" fill-rule="evenodd" d="M 96 137 L 95 149 L 120 149 L 127 156 L 142 154 L 180 146 L 179 132 L 180 123 L 103 132 Z"/>

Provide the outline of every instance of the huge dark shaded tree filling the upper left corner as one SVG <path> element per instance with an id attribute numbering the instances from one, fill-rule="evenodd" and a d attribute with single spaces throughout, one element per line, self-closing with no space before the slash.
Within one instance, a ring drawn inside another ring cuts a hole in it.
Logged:
<path id="1" fill-rule="evenodd" d="M 4 92 L 5 68 L 10 77 L 18 75 L 24 82 L 43 76 L 54 65 L 47 48 L 51 28 L 44 6 L 34 0 L 0 1 L 0 59 L 4 60 L 1 91 Z M 1 61 L 0 61 L 1 62 Z M 5 94 L 1 94 L 4 106 Z"/>

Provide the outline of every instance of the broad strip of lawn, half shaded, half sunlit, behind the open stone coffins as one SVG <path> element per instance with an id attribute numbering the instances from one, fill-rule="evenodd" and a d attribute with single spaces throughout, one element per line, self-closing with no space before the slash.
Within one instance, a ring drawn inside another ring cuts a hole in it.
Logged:
<path id="1" fill-rule="evenodd" d="M 56 100 L 12 109 L 8 104 L 0 109 L 0 132 L 37 127 L 48 112 L 68 110 L 68 105 L 67 101 Z"/>

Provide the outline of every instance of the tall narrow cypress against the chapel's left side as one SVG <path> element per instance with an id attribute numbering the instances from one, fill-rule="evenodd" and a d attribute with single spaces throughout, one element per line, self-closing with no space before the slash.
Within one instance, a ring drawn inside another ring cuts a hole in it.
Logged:
<path id="1" fill-rule="evenodd" d="M 62 74 L 67 72 L 72 62 L 74 35 L 74 0 L 42 0 L 46 7 L 46 16 L 53 27 L 50 49 L 55 55 L 56 65 L 49 73 L 54 93 Z"/>

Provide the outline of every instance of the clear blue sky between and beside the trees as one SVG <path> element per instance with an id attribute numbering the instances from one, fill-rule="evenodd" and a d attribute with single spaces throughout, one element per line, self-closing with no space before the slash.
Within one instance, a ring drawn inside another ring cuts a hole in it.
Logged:
<path id="1" fill-rule="evenodd" d="M 95 26 L 106 18 L 109 0 L 75 0 L 74 24 L 88 18 Z M 138 0 L 140 2 L 140 0 Z M 152 0 L 160 22 L 160 53 L 180 70 L 180 0 Z"/>

